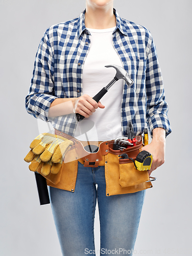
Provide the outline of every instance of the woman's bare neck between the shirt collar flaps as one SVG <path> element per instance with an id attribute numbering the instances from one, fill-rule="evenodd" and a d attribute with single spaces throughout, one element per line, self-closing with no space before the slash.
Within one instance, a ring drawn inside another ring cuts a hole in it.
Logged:
<path id="1" fill-rule="evenodd" d="M 91 29 L 108 29 L 116 26 L 113 6 L 94 8 L 86 5 L 85 27 Z"/>

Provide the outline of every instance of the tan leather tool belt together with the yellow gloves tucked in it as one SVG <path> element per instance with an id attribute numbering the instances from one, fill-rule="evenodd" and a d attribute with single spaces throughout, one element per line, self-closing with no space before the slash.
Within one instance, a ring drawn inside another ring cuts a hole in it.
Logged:
<path id="1" fill-rule="evenodd" d="M 32 144 L 38 142 L 38 149 L 39 147 L 46 147 L 44 153 L 39 153 L 40 159 L 45 161 L 43 155 L 45 157 L 52 155 L 52 163 L 41 163 L 37 155 L 32 161 L 32 164 L 30 164 L 30 170 L 44 176 L 49 186 L 74 192 L 78 162 L 80 162 L 85 167 L 105 166 L 106 196 L 134 193 L 152 187 L 148 172 L 146 170 L 139 171 L 134 167 L 134 160 L 142 147 L 141 136 L 135 137 L 137 141 L 133 146 L 128 148 L 122 147 L 123 149 L 120 147 L 119 150 L 113 150 L 114 140 L 102 142 L 79 141 L 57 130 L 55 130 L 55 135 L 41 134 L 39 136 Z M 39 143 L 40 141 L 41 143 Z M 56 148 L 55 146 L 58 143 L 60 143 L 60 146 Z M 64 156 L 63 160 L 61 158 L 61 162 L 54 160 L 57 157 L 57 150 L 60 151 L 60 157 L 61 155 Z M 30 158 L 33 159 L 31 156 L 32 153 L 31 151 L 26 156 L 26 158 L 29 158 L 27 162 L 30 162 Z M 121 157 L 122 154 L 127 154 L 129 159 L 123 159 Z M 43 166 L 46 167 L 46 170 L 50 169 L 50 171 L 47 173 L 44 172 Z M 56 167 L 59 167 L 57 172 Z"/>

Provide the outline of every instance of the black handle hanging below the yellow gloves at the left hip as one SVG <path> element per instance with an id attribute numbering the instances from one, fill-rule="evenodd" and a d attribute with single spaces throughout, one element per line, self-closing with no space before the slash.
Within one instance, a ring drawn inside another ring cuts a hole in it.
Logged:
<path id="1" fill-rule="evenodd" d="M 40 205 L 50 204 L 50 197 L 46 185 L 46 179 L 41 174 L 36 172 L 35 179 L 37 183 Z"/>

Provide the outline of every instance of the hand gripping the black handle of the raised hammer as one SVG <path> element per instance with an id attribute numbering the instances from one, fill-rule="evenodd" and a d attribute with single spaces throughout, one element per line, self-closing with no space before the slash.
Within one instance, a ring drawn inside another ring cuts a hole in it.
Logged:
<path id="1" fill-rule="evenodd" d="M 84 94 L 81 97 L 77 98 L 74 113 L 79 113 L 84 117 L 89 117 L 96 109 L 104 109 L 105 106 L 99 101 L 98 103 L 92 99 L 89 95 Z"/>

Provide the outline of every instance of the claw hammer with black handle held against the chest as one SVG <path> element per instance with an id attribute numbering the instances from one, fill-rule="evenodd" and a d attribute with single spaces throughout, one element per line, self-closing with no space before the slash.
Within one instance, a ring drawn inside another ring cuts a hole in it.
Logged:
<path id="1" fill-rule="evenodd" d="M 124 79 L 127 83 L 128 86 L 132 86 L 132 84 L 134 83 L 134 81 L 128 76 L 127 71 L 125 71 L 125 69 L 123 69 L 122 67 L 119 67 L 117 65 L 108 65 L 105 66 L 106 68 L 114 68 L 116 69 L 116 75 L 113 78 L 113 80 L 110 81 L 110 83 L 107 84 L 106 87 L 104 87 L 98 94 L 96 94 L 93 99 L 97 102 L 100 101 L 100 99 L 108 92 L 109 88 L 119 79 Z M 85 117 L 80 115 L 79 113 L 76 113 L 76 118 L 77 120 L 80 122 L 81 120 L 83 120 Z"/>

